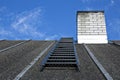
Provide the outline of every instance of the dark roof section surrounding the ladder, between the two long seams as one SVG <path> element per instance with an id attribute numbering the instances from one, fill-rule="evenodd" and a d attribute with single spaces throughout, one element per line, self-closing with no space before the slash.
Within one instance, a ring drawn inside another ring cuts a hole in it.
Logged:
<path id="1" fill-rule="evenodd" d="M 80 72 L 76 69 L 46 68 L 39 71 L 39 64 L 45 55 L 21 78 L 21 80 L 105 80 L 92 62 L 82 45 L 76 45 L 80 62 Z"/>

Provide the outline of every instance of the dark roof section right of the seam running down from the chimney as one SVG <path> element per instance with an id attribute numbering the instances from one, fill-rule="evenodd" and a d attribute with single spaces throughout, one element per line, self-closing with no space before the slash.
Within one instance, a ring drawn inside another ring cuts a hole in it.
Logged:
<path id="1" fill-rule="evenodd" d="M 88 46 L 113 79 L 120 80 L 120 46 L 112 44 Z"/>

